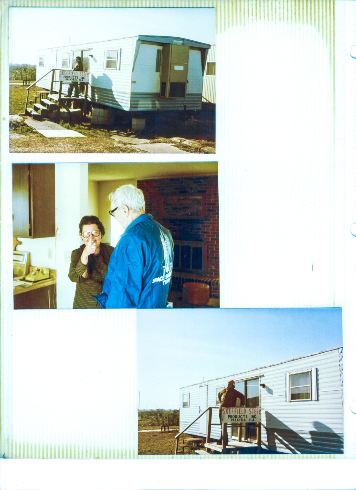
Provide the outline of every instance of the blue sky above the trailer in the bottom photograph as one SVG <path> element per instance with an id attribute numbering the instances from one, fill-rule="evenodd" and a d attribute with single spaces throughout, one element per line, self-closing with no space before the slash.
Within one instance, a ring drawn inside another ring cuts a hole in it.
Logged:
<path id="1" fill-rule="evenodd" d="M 342 345 L 341 308 L 137 310 L 140 409 L 179 388 Z"/>

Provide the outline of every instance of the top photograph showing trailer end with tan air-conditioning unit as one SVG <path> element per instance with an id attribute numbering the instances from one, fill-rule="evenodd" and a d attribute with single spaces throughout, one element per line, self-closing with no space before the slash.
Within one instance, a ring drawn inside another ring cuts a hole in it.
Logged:
<path id="1" fill-rule="evenodd" d="M 215 9 L 10 8 L 9 83 L 10 153 L 215 153 Z"/>

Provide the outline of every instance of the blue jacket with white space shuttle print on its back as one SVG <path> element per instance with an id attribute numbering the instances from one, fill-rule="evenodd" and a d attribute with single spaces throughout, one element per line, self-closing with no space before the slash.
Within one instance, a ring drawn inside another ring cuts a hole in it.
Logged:
<path id="1" fill-rule="evenodd" d="M 140 215 L 121 235 L 95 299 L 102 308 L 166 308 L 173 250 L 170 231 Z"/>

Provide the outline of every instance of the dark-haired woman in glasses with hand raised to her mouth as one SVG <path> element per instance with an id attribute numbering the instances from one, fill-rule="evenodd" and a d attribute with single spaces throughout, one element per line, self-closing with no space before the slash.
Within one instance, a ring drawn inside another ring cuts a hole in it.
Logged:
<path id="1" fill-rule="evenodd" d="M 83 216 L 79 235 L 83 245 L 73 250 L 68 277 L 76 282 L 73 308 L 101 308 L 94 296 L 102 292 L 114 247 L 102 244 L 105 229 L 96 216 Z"/>

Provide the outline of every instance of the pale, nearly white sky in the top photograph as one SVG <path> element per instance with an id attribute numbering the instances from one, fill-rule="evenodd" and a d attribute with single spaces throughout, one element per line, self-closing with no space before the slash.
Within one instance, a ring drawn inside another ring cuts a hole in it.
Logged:
<path id="1" fill-rule="evenodd" d="M 36 19 L 41 25 L 52 27 L 38 26 L 29 34 L 28 26 L 36 25 Z M 10 63 L 35 65 L 37 49 L 137 34 L 177 36 L 215 44 L 215 9 L 11 7 Z"/>

